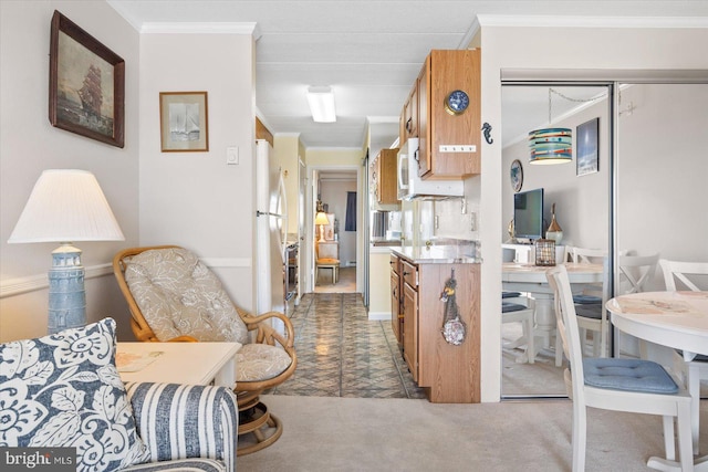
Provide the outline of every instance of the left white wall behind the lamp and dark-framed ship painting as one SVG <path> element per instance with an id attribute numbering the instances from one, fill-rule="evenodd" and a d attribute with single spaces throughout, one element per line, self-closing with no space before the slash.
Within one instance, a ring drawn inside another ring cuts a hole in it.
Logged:
<path id="1" fill-rule="evenodd" d="M 125 60 L 125 147 L 110 146 L 49 123 L 50 22 L 59 10 Z M 0 2 L 0 342 L 46 334 L 46 271 L 59 244 L 8 244 L 44 169 L 92 171 L 126 240 L 85 242 L 86 317 L 112 316 L 131 339 L 129 314 L 110 269 L 113 255 L 138 242 L 139 35 L 103 1 Z"/>

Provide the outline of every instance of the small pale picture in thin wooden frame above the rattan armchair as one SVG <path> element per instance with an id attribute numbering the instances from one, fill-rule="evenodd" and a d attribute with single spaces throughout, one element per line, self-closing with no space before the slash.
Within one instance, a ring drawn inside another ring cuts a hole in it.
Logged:
<path id="1" fill-rule="evenodd" d="M 159 124 L 163 153 L 209 150 L 206 92 L 160 92 Z"/>

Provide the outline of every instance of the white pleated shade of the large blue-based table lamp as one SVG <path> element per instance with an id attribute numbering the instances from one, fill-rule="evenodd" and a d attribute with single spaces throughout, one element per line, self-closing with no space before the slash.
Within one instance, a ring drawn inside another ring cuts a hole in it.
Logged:
<path id="1" fill-rule="evenodd" d="M 123 241 L 121 227 L 93 174 L 44 170 L 9 243 Z"/>

